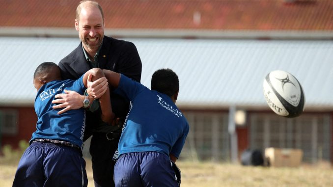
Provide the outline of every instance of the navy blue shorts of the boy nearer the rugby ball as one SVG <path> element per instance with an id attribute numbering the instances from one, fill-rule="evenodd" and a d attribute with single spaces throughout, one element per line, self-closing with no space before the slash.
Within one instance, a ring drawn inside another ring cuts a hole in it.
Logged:
<path id="1" fill-rule="evenodd" d="M 114 183 L 116 187 L 179 187 L 169 157 L 159 152 L 120 155 Z"/>

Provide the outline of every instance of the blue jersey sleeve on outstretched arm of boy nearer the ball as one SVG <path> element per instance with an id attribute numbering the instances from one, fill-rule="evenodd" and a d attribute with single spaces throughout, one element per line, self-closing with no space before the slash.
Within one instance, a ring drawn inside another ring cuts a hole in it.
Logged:
<path id="1" fill-rule="evenodd" d="M 139 82 L 120 74 L 120 81 L 114 93 L 133 101 L 144 88 L 145 87 Z"/>

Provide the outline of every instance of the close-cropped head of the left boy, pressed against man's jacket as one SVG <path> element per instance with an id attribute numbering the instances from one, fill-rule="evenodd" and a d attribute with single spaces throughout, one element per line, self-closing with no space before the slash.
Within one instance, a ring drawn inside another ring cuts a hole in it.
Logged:
<path id="1" fill-rule="evenodd" d="M 61 80 L 60 68 L 53 62 L 43 62 L 33 74 L 33 85 L 39 90 L 42 85 L 53 80 Z"/>

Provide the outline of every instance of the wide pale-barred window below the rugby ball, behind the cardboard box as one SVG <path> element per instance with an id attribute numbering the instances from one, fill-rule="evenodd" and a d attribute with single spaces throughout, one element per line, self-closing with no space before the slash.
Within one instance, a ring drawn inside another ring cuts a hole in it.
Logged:
<path id="1" fill-rule="evenodd" d="M 251 115 L 251 149 L 267 147 L 303 150 L 303 161 L 331 158 L 331 117 L 328 114 L 283 118 L 277 115 Z"/>

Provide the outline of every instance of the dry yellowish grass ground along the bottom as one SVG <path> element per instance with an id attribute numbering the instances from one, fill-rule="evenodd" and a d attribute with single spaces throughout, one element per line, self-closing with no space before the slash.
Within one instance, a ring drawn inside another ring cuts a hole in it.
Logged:
<path id="1" fill-rule="evenodd" d="M 18 160 L 0 159 L 1 187 L 12 185 Z M 182 187 L 333 187 L 330 164 L 298 168 L 252 167 L 228 163 L 177 161 Z M 88 187 L 93 187 L 91 162 L 87 159 Z"/>

